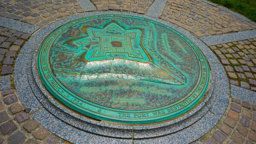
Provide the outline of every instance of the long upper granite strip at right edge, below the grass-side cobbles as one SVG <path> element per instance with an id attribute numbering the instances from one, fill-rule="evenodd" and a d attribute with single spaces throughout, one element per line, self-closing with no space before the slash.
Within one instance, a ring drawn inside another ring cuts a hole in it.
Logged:
<path id="1" fill-rule="evenodd" d="M 204 43 L 206 43 L 208 46 L 212 46 L 215 44 L 229 43 L 233 41 L 246 40 L 246 39 L 255 38 L 255 37 L 256 37 L 256 30 L 249 30 L 249 31 L 237 32 L 237 33 L 231 33 L 231 34 L 201 37 L 200 39 Z"/>

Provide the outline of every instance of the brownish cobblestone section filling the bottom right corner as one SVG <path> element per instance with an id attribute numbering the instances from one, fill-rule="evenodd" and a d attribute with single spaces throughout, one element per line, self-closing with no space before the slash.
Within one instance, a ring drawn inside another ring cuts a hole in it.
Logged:
<path id="1" fill-rule="evenodd" d="M 199 141 L 204 144 L 256 144 L 256 104 L 232 98 L 228 109 L 214 130 Z"/>

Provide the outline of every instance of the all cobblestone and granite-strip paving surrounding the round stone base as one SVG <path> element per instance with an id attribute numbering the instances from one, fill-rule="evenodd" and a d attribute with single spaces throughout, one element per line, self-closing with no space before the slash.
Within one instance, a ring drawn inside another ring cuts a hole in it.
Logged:
<path id="1" fill-rule="evenodd" d="M 23 105 L 15 61 L 29 55 L 23 47 L 38 30 L 70 16 L 102 11 L 163 20 L 205 43 L 226 72 L 230 95 L 224 115 L 217 115 L 216 125 L 192 143 L 256 144 L 256 23 L 207 0 L 1 0 L 0 143 L 70 143 L 32 117 L 40 109 L 31 113 Z M 131 142 L 136 143 L 133 138 Z"/>

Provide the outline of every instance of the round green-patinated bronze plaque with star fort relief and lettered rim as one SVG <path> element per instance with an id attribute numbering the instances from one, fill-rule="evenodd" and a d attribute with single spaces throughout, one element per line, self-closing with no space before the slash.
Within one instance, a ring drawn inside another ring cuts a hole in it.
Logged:
<path id="1" fill-rule="evenodd" d="M 47 90 L 83 115 L 149 124 L 175 118 L 199 104 L 210 72 L 187 37 L 153 20 L 97 15 L 52 32 L 38 52 Z"/>

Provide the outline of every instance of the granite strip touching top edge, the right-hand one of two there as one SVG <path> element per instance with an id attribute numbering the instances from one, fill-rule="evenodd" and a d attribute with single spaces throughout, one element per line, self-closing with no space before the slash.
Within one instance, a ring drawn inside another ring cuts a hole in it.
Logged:
<path id="1" fill-rule="evenodd" d="M 160 15 L 167 0 L 155 0 L 151 7 L 146 12 L 146 15 L 151 17 L 158 17 Z"/>

